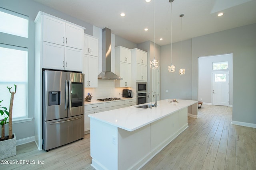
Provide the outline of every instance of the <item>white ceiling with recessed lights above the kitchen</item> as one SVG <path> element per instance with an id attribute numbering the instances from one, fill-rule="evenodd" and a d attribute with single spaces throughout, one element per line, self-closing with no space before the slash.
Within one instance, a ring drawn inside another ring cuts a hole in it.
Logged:
<path id="1" fill-rule="evenodd" d="M 134 43 L 166 45 L 234 27 L 256 23 L 256 0 L 34 0 L 86 21 Z M 124 12 L 126 16 L 121 17 Z M 217 14 L 224 15 L 218 17 Z M 182 34 L 181 34 L 181 18 Z M 144 31 L 144 28 L 148 31 Z M 162 41 L 159 39 L 163 38 Z"/>

